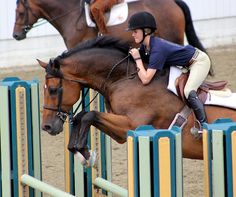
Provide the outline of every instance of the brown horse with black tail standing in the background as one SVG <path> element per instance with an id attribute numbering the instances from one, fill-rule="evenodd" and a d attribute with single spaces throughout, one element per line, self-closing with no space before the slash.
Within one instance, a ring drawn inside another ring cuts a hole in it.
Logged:
<path id="1" fill-rule="evenodd" d="M 155 16 L 160 37 L 183 44 L 185 33 L 189 44 L 205 51 L 195 33 L 190 10 L 182 0 L 132 2 L 129 3 L 128 18 L 137 11 L 148 11 Z M 58 30 L 69 49 L 81 41 L 95 38 L 98 33 L 96 28 L 88 27 L 85 22 L 84 0 L 18 0 L 13 37 L 16 40 L 26 38 L 27 32 L 40 18 L 46 19 Z M 108 33 L 133 42 L 130 33 L 125 31 L 127 27 L 126 21 L 108 27 Z"/>

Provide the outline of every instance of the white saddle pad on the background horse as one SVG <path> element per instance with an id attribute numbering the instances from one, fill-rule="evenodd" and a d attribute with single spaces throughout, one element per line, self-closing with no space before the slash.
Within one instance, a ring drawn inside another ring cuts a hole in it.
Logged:
<path id="1" fill-rule="evenodd" d="M 128 18 L 128 3 L 134 2 L 134 1 L 139 1 L 139 0 L 125 0 L 123 3 L 114 5 L 111 8 L 110 16 L 106 25 L 113 26 L 113 25 L 119 25 L 121 23 L 124 23 Z M 86 17 L 86 23 L 89 27 L 96 26 L 90 17 L 89 4 L 87 3 L 85 3 L 85 17 Z"/>

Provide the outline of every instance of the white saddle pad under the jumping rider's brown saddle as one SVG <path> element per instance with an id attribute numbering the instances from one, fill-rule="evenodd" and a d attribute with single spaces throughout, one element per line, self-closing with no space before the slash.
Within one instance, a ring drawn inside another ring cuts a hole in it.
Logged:
<path id="1" fill-rule="evenodd" d="M 168 87 L 171 92 L 177 94 L 177 90 L 175 88 L 175 80 L 181 75 L 181 69 L 172 66 L 170 68 L 169 82 Z M 236 93 L 227 93 L 228 96 L 220 96 L 217 94 L 220 91 L 214 91 L 214 93 L 207 94 L 207 100 L 205 102 L 206 105 L 218 105 L 236 109 Z"/>

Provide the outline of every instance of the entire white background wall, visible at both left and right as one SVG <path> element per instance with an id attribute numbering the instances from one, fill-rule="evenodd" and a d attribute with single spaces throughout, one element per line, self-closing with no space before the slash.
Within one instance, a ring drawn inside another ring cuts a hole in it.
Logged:
<path id="1" fill-rule="evenodd" d="M 63 40 L 49 23 L 32 29 L 27 39 L 12 38 L 16 1 L 2 0 L 0 6 L 0 68 L 36 64 L 66 49 Z M 194 26 L 207 48 L 236 43 L 235 0 L 185 0 Z"/>

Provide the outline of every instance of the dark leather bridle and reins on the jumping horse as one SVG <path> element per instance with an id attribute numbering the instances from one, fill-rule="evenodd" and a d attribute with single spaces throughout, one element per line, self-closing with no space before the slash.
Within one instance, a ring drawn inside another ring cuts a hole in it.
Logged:
<path id="1" fill-rule="evenodd" d="M 121 59 L 119 62 L 117 62 L 116 64 L 113 65 L 112 69 L 110 70 L 110 72 L 108 73 L 107 77 L 106 77 L 106 80 L 108 80 L 112 74 L 112 72 L 114 71 L 114 69 L 120 65 L 123 61 L 125 61 L 126 59 L 128 59 L 128 66 L 127 66 L 127 72 L 129 71 L 128 70 L 128 67 L 129 67 L 129 57 L 130 57 L 130 54 L 128 54 L 127 56 L 125 56 L 123 59 Z M 55 61 L 55 60 L 54 60 Z M 81 81 L 79 80 L 74 80 L 74 79 L 69 79 L 67 77 L 65 77 L 63 75 L 63 73 L 60 72 L 60 69 L 59 70 L 54 70 L 50 67 L 50 65 L 52 64 L 53 62 L 50 60 L 49 64 L 47 65 L 46 67 L 46 80 L 47 79 L 52 79 L 52 78 L 57 78 L 57 79 L 60 79 L 59 81 L 59 87 L 53 89 L 53 90 L 50 90 L 50 87 L 48 88 L 49 90 L 49 94 L 50 95 L 57 95 L 57 100 L 58 100 L 58 103 L 57 103 L 57 106 L 48 106 L 48 105 L 44 105 L 43 108 L 44 109 L 47 109 L 47 110 L 51 110 L 51 111 L 55 111 L 57 112 L 56 115 L 63 121 L 65 122 L 66 121 L 66 118 L 67 116 L 70 117 L 70 122 L 73 122 L 73 118 L 75 116 L 75 114 L 77 113 L 79 107 L 82 105 L 82 103 L 84 102 L 84 98 L 85 96 L 88 94 L 88 91 L 89 91 L 89 88 L 87 89 L 87 91 L 85 92 L 85 94 L 83 94 L 82 96 L 82 100 L 81 102 L 79 103 L 79 105 L 77 106 L 77 108 L 74 110 L 74 112 L 68 112 L 66 110 L 63 110 L 62 109 L 62 98 L 63 98 L 63 80 L 67 80 L 67 81 L 70 81 L 70 82 L 74 82 L 74 83 L 79 83 L 81 84 Z M 130 76 L 127 74 L 127 78 L 128 79 L 132 79 L 134 78 L 134 76 L 137 74 L 137 71 L 134 72 L 134 73 L 131 73 Z M 103 89 L 105 90 L 105 87 L 106 87 L 106 80 L 104 81 L 102 87 Z M 94 100 L 95 98 L 98 96 L 98 92 L 96 93 L 96 95 L 94 96 L 94 98 L 86 105 L 84 106 L 84 109 L 87 108 Z"/>

